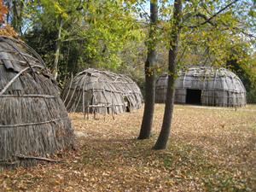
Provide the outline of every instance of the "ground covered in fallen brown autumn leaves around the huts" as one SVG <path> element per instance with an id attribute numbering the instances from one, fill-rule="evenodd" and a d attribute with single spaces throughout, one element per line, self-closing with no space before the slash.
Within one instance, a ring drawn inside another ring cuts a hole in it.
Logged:
<path id="1" fill-rule="evenodd" d="M 153 137 L 137 140 L 143 109 L 84 119 L 71 113 L 78 150 L 65 163 L 0 173 L 9 191 L 256 191 L 256 105 L 175 105 L 166 150 L 151 149 L 164 104 L 156 104 Z"/>

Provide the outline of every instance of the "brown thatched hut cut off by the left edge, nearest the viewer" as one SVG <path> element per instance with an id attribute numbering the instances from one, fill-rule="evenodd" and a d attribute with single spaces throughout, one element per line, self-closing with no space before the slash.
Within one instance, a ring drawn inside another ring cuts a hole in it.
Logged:
<path id="1" fill-rule="evenodd" d="M 58 92 L 32 48 L 0 36 L 0 171 L 35 165 L 40 157 L 73 147 L 73 128 Z"/>

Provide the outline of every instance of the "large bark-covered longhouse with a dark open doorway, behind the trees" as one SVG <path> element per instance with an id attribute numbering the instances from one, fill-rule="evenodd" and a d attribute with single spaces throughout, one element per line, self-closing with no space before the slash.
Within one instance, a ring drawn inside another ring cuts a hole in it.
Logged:
<path id="1" fill-rule="evenodd" d="M 190 67 L 178 73 L 175 103 L 218 107 L 244 107 L 247 91 L 235 73 L 226 68 Z M 155 102 L 165 102 L 167 73 L 156 79 Z"/>

